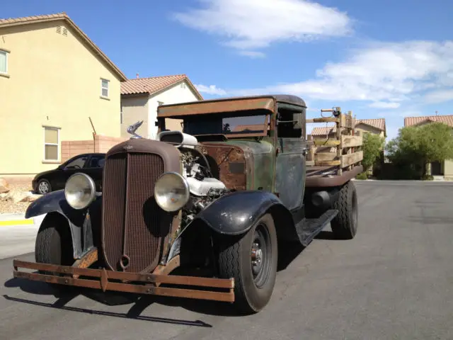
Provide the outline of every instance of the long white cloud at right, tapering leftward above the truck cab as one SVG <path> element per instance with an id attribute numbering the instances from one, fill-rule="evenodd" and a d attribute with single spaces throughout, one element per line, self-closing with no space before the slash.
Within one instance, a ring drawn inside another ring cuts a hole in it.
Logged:
<path id="1" fill-rule="evenodd" d="M 440 103 L 453 98 L 453 41 L 377 43 L 350 50 L 316 77 L 231 94 L 287 93 L 329 102 L 365 101 L 372 108 L 398 108 L 404 101 Z M 426 91 L 432 91 L 426 94 Z"/>

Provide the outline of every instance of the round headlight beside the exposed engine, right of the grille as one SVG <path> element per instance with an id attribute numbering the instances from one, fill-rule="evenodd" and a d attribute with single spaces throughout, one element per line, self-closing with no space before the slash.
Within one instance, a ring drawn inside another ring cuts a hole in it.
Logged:
<path id="1" fill-rule="evenodd" d="M 177 172 L 166 172 L 156 181 L 154 198 L 165 211 L 183 208 L 190 197 L 189 183 Z"/>

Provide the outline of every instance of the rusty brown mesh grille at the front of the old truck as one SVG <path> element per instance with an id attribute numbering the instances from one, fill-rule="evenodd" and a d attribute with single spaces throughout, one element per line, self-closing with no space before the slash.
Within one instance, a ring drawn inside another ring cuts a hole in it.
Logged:
<path id="1" fill-rule="evenodd" d="M 110 269 L 152 271 L 169 232 L 154 200 L 164 173 L 158 154 L 120 152 L 106 157 L 103 171 L 103 252 Z M 123 265 L 123 266 L 122 266 Z"/>

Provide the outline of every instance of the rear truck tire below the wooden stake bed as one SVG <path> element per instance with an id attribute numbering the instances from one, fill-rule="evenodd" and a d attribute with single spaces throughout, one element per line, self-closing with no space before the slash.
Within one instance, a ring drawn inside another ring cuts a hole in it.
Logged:
<path id="1" fill-rule="evenodd" d="M 331 221 L 332 232 L 337 239 L 353 239 L 357 234 L 358 206 L 354 182 L 341 188 L 338 200 L 333 203 L 338 215 Z"/>

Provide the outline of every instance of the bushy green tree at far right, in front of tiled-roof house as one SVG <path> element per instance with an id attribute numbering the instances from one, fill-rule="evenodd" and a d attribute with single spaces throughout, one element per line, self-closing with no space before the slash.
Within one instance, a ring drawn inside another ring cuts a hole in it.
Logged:
<path id="1" fill-rule="evenodd" d="M 394 164 L 418 164 L 425 177 L 429 163 L 453 158 L 452 128 L 444 123 L 402 128 L 387 145 L 387 152 Z"/>

